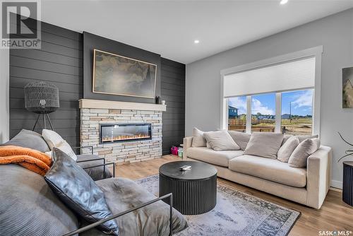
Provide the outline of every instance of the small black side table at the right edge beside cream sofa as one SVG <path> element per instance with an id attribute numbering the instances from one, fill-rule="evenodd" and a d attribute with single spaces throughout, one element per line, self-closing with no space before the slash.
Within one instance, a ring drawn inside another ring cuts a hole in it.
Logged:
<path id="1" fill-rule="evenodd" d="M 353 161 L 343 162 L 342 200 L 353 206 Z"/>

